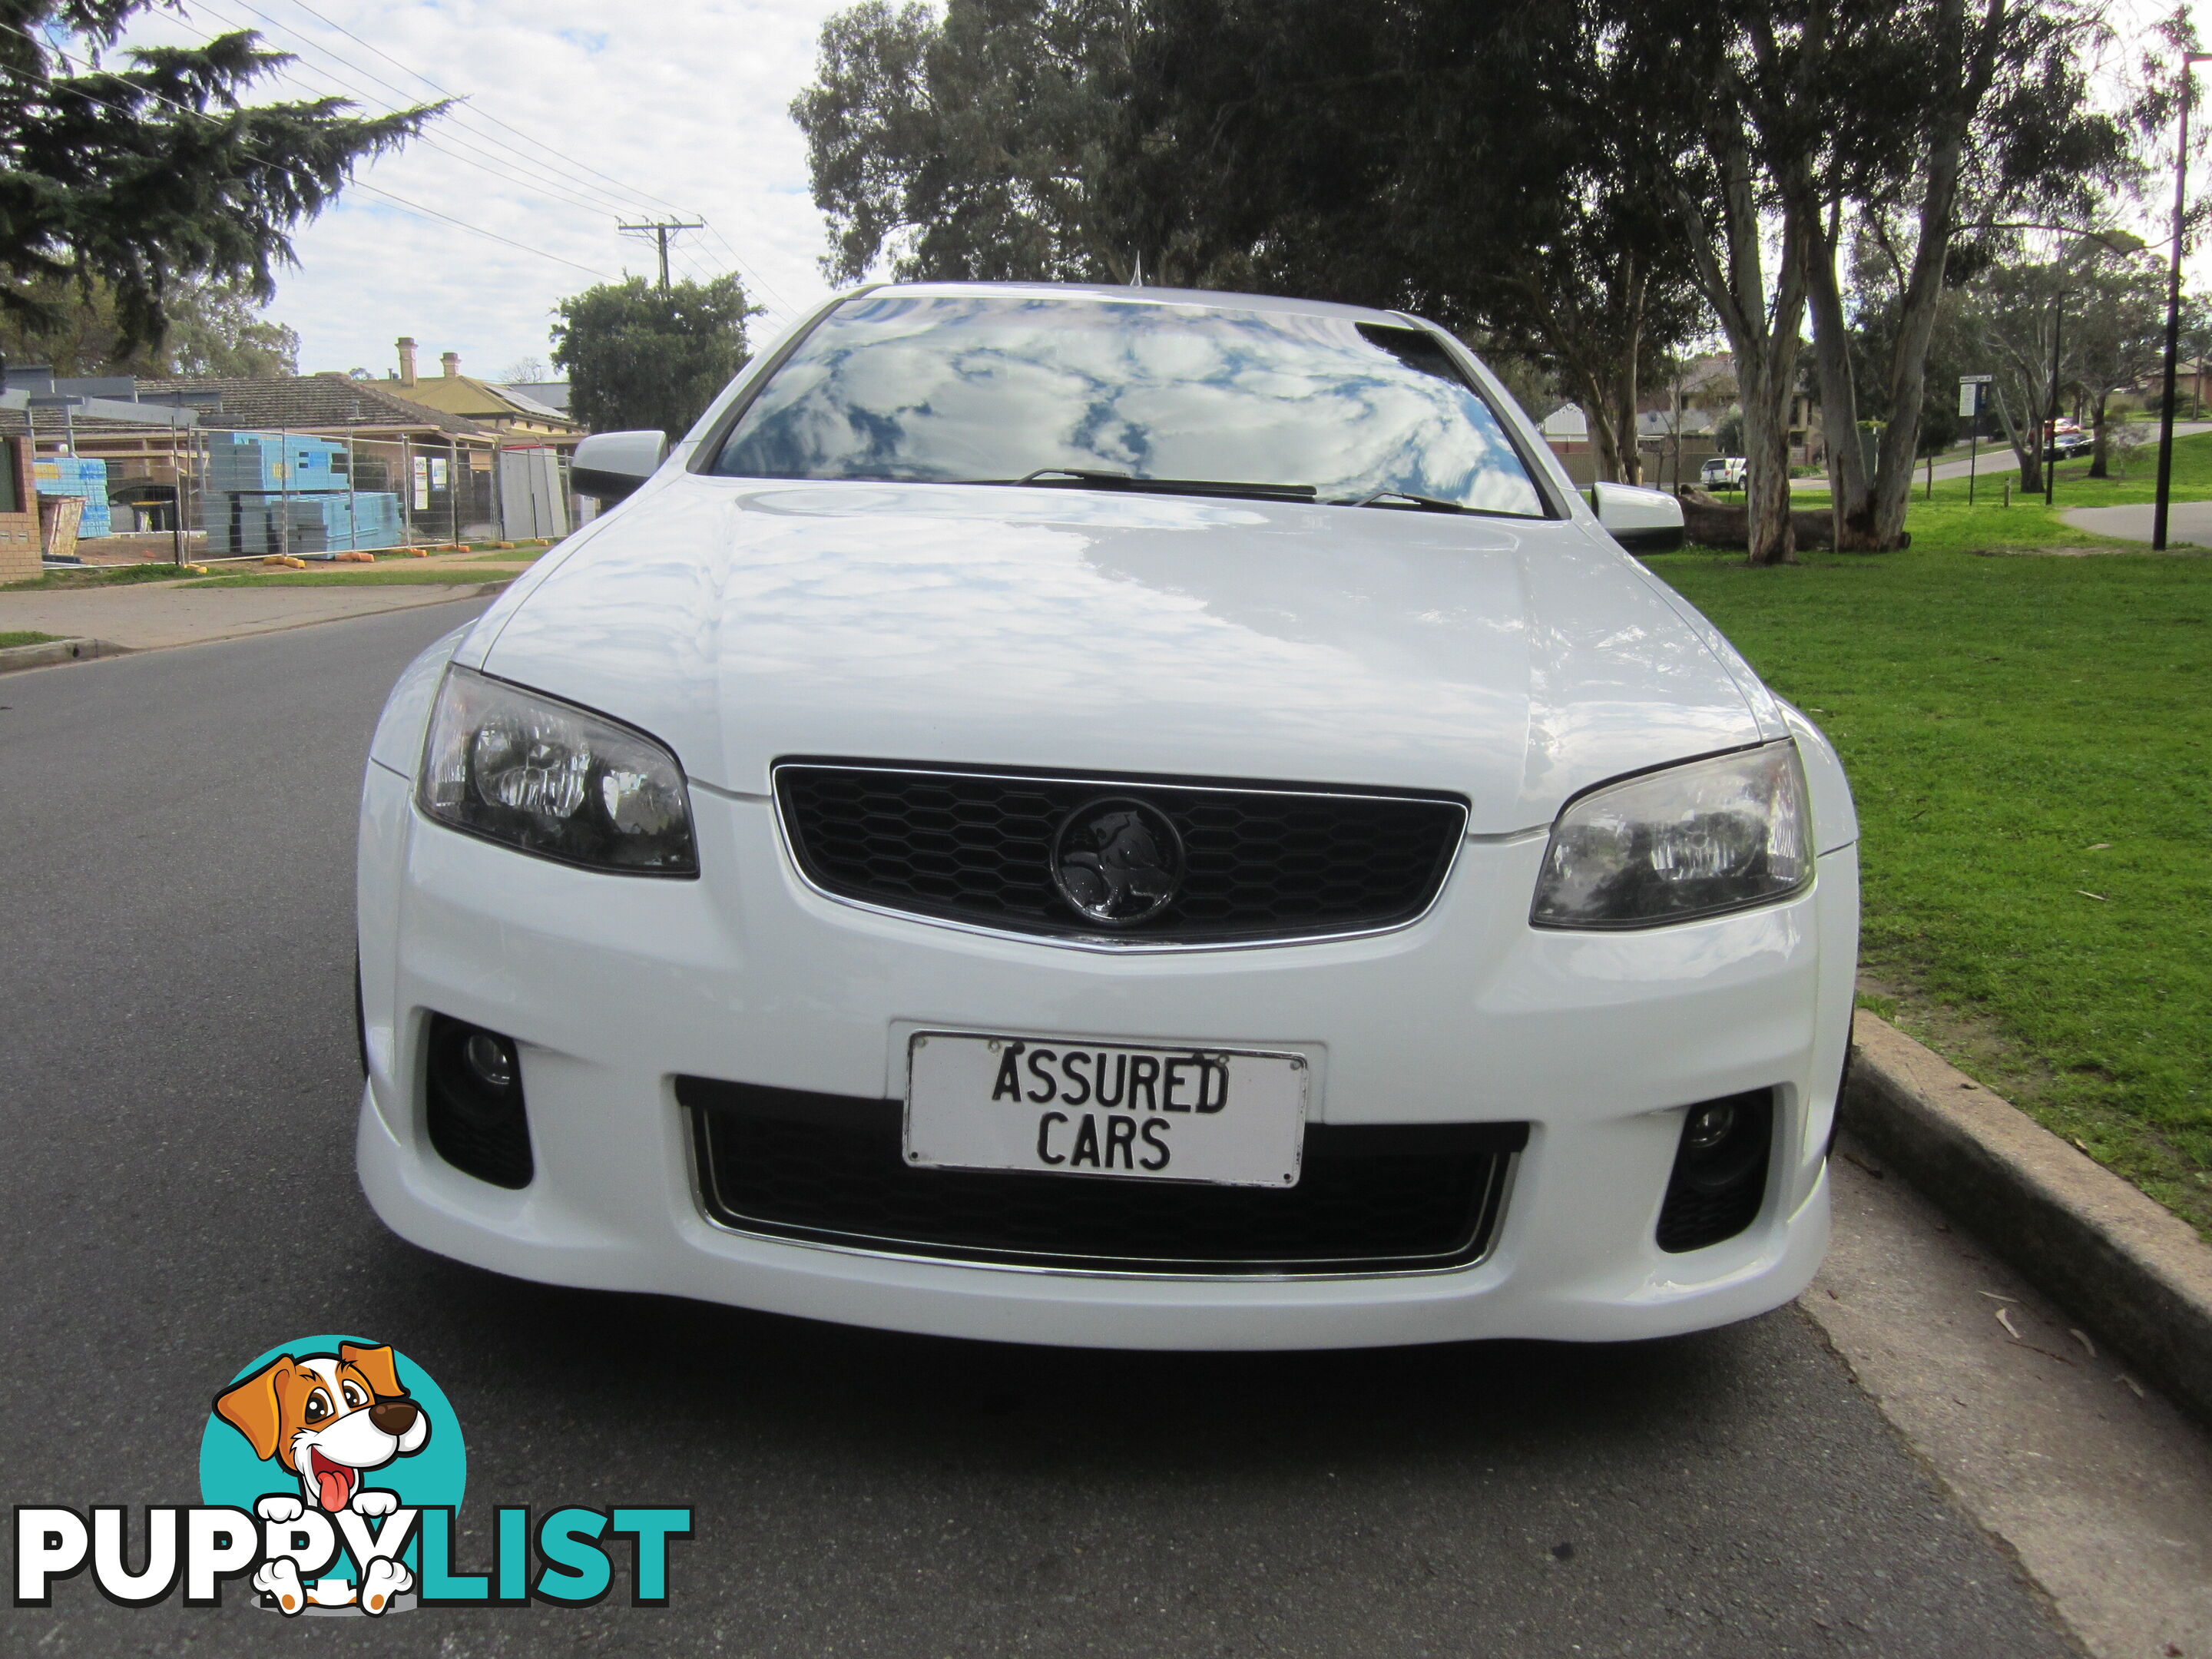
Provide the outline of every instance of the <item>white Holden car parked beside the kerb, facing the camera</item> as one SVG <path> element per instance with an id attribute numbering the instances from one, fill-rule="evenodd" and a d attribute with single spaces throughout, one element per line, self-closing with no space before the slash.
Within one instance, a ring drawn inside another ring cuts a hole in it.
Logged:
<path id="1" fill-rule="evenodd" d="M 1451 334 L 841 296 L 400 677 L 361 1181 L 524 1279 L 1108 1347 L 1644 1338 L 1827 1241 L 1834 750 Z"/>

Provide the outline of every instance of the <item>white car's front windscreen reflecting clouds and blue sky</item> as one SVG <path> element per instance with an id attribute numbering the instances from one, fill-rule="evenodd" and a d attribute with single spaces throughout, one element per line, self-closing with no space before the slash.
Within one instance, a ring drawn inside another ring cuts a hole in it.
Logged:
<path id="1" fill-rule="evenodd" d="M 863 294 L 770 376 L 712 471 L 1312 487 L 1544 518 L 1498 416 L 1427 330 L 1296 312 Z"/>

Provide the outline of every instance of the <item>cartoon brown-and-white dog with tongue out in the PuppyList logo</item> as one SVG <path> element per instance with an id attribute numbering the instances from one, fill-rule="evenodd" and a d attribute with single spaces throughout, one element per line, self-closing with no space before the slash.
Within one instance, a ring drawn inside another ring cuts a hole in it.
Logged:
<path id="1" fill-rule="evenodd" d="M 338 1343 L 336 1354 L 283 1354 L 223 1389 L 215 1413 L 246 1436 L 257 1458 L 299 1478 L 299 1498 L 270 1493 L 254 1504 L 265 1522 L 292 1522 L 307 1509 L 389 1515 L 398 1493 L 367 1486 L 363 1475 L 429 1442 L 429 1416 L 400 1387 L 389 1347 Z M 310 1601 L 290 1557 L 257 1568 L 252 1584 L 288 1615 Z M 409 1588 L 414 1573 L 405 1566 L 369 1562 L 358 1606 L 383 1613 Z"/>

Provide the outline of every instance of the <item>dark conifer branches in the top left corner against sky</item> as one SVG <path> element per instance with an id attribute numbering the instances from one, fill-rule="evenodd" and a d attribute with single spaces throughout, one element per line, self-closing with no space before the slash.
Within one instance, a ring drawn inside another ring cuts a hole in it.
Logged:
<path id="1" fill-rule="evenodd" d="M 252 82 L 290 62 L 250 31 L 128 49 L 111 66 L 106 53 L 146 9 L 15 0 L 0 31 L 0 314 L 51 327 L 55 283 L 104 285 L 117 358 L 161 345 L 179 285 L 272 299 L 274 268 L 292 259 L 288 232 L 336 199 L 356 164 L 445 108 L 248 106 Z"/>

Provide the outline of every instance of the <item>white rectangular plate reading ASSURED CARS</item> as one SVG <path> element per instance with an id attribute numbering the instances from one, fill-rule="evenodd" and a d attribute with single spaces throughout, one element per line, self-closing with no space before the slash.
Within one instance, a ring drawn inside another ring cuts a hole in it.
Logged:
<path id="1" fill-rule="evenodd" d="M 922 1031 L 907 1164 L 1119 1181 L 1296 1186 L 1305 1055 Z"/>

